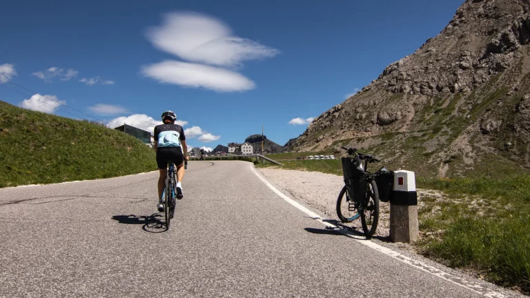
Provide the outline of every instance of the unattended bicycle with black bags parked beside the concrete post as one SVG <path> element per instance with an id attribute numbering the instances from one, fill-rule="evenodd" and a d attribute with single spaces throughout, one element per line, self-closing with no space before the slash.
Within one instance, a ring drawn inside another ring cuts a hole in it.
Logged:
<path id="1" fill-rule="evenodd" d="M 375 179 L 380 175 L 386 175 L 389 171 L 382 167 L 377 172 L 371 173 L 368 171 L 369 163 L 379 162 L 379 159 L 358 153 L 356 148 L 341 148 L 353 157 L 342 157 L 345 185 L 337 198 L 337 216 L 343 223 L 350 223 L 360 217 L 364 235 L 370 238 L 377 230 L 379 222 L 380 191 L 377 189 Z"/>

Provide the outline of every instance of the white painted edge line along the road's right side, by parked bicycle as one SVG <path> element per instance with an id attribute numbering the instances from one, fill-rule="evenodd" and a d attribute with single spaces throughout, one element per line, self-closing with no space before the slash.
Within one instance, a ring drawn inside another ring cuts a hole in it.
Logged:
<path id="1" fill-rule="evenodd" d="M 317 221 L 320 221 L 320 223 L 324 224 L 324 226 L 338 228 L 337 226 L 335 226 L 333 224 L 330 224 L 330 223 L 328 223 L 326 221 L 323 221 L 322 217 L 317 215 L 315 212 L 313 212 L 313 211 L 309 210 L 308 208 L 302 206 L 297 201 L 294 201 L 290 197 L 287 197 L 282 192 L 277 190 L 277 188 L 275 188 L 271 183 L 269 183 L 264 177 L 262 177 L 262 175 L 260 175 L 255 170 L 255 167 L 254 167 L 253 163 L 251 163 L 250 166 L 251 166 L 251 170 L 254 172 L 254 174 L 261 181 L 263 181 L 263 183 L 265 183 L 265 185 L 268 186 L 268 188 L 271 188 L 271 190 L 273 190 L 273 192 L 275 192 L 276 195 L 278 195 L 279 197 L 281 197 L 282 199 L 284 199 L 285 201 L 287 201 L 291 205 L 295 206 L 296 208 L 298 208 L 299 210 L 304 212 L 306 215 L 308 215 L 310 217 L 313 217 Z M 440 277 L 441 279 L 444 279 L 446 281 L 451 281 L 453 284 L 457 284 L 458 286 L 462 286 L 464 288 L 467 288 L 468 290 L 472 290 L 473 292 L 476 292 L 476 293 L 478 293 L 480 295 L 483 295 L 484 297 L 491 297 L 491 298 L 504 298 L 504 297 L 507 297 L 506 295 L 504 295 L 504 294 L 502 294 L 500 292 L 495 292 L 494 290 L 491 290 L 489 288 L 481 286 L 480 284 L 477 284 L 477 283 L 475 283 L 473 281 L 468 281 L 467 279 L 463 279 L 462 277 L 458 277 L 458 276 L 453 275 L 451 273 L 444 272 L 444 271 L 442 271 L 442 270 L 440 270 L 438 268 L 435 268 L 433 266 L 425 264 L 422 261 L 418 261 L 418 260 L 412 259 L 411 257 L 406 257 L 405 255 L 402 255 L 399 252 L 395 252 L 394 250 L 391 250 L 390 248 L 386 248 L 384 246 L 380 246 L 379 244 L 375 244 L 372 241 L 367 241 L 364 238 L 356 237 L 355 235 L 350 235 L 350 234 L 347 234 L 347 233 L 344 233 L 344 235 L 355 239 L 360 244 L 364 244 L 365 246 L 368 246 L 369 248 L 373 248 L 374 250 L 377 250 L 378 252 L 382 252 L 385 255 L 388 255 L 389 257 L 393 257 L 394 259 L 400 260 L 400 261 L 402 261 L 405 264 L 408 264 L 410 266 L 413 266 L 415 268 L 418 268 L 420 270 L 428 272 L 431 275 L 434 275 L 435 277 Z"/>

